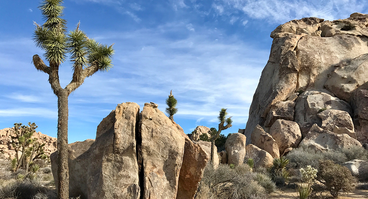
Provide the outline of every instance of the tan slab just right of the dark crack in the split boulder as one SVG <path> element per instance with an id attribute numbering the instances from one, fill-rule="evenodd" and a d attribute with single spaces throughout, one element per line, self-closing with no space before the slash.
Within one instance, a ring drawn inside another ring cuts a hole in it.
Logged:
<path id="1" fill-rule="evenodd" d="M 185 140 L 154 103 L 145 103 L 140 122 L 144 199 L 175 198 Z"/>

